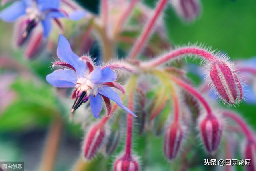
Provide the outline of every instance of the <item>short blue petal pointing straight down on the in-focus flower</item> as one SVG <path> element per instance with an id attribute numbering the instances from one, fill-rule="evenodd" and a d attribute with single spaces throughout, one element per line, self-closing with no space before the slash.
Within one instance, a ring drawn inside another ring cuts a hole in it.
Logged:
<path id="1" fill-rule="evenodd" d="M 89 99 L 92 114 L 94 115 L 94 117 L 98 118 L 100 116 L 100 111 L 102 110 L 102 97 L 100 94 L 96 95 L 96 97 L 90 95 Z"/>

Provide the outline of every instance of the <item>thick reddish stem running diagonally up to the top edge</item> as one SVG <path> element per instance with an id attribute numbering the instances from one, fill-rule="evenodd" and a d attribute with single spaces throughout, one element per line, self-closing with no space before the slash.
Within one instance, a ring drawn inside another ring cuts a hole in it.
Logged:
<path id="1" fill-rule="evenodd" d="M 150 33 L 153 31 L 154 26 L 156 25 L 156 20 L 162 14 L 164 11 L 164 7 L 166 6 L 168 0 L 160 0 L 158 5 L 156 6 L 156 9 L 154 10 L 153 17 L 150 18 L 146 26 L 144 27 L 144 30 L 142 31 L 140 37 L 134 44 L 131 53 L 128 58 L 136 58 L 138 53 L 142 50 L 145 42 L 148 40 Z"/>

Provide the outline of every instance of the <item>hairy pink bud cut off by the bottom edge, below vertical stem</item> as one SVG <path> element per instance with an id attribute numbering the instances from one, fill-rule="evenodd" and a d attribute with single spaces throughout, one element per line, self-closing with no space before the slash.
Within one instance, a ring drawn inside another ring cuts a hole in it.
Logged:
<path id="1" fill-rule="evenodd" d="M 114 171 L 139 171 L 139 168 L 138 161 L 134 160 L 134 157 L 130 155 L 124 155 L 116 159 L 114 163 Z"/>

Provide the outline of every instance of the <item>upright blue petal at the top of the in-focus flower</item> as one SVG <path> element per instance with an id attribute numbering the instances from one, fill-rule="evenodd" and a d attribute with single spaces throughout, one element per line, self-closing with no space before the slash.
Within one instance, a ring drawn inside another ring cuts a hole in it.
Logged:
<path id="1" fill-rule="evenodd" d="M 72 65 L 76 69 L 78 77 L 84 78 L 86 76 L 88 67 L 82 60 L 79 60 L 79 57 L 71 50 L 68 40 L 66 40 L 66 38 L 61 34 L 59 37 L 59 44 L 57 47 L 57 56 L 62 61 Z"/>

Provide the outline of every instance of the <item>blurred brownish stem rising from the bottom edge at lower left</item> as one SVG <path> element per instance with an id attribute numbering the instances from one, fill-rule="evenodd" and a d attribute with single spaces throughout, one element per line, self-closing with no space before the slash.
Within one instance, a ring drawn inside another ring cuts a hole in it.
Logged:
<path id="1" fill-rule="evenodd" d="M 54 170 L 53 169 L 54 161 L 56 158 L 61 133 L 62 133 L 62 119 L 58 117 L 54 120 L 54 122 L 52 123 L 52 126 L 50 127 L 39 170 L 41 171 Z"/>

